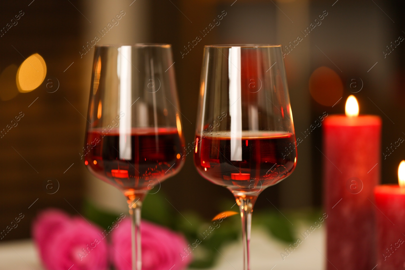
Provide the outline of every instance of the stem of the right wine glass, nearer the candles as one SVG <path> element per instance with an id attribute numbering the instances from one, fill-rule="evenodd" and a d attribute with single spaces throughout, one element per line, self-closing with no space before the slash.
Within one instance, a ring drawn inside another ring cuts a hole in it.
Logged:
<path id="1" fill-rule="evenodd" d="M 242 219 L 243 270 L 250 270 L 250 230 L 255 201 L 256 197 L 253 196 L 237 198 Z"/>

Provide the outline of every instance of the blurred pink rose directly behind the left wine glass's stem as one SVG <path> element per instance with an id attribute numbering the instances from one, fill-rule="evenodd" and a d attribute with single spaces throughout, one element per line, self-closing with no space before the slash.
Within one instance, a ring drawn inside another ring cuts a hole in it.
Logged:
<path id="1" fill-rule="evenodd" d="M 185 257 L 188 244 L 181 234 L 159 225 L 142 221 L 142 270 L 183 270 L 192 260 Z M 131 224 L 124 220 L 112 233 L 111 258 L 117 270 L 132 270 Z"/>

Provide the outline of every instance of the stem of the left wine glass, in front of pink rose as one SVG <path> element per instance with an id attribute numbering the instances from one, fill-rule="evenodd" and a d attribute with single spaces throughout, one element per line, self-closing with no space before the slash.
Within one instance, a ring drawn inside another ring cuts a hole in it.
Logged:
<path id="1" fill-rule="evenodd" d="M 131 217 L 131 240 L 132 240 L 132 269 L 141 270 L 142 252 L 141 252 L 141 198 L 128 200 L 129 213 Z"/>

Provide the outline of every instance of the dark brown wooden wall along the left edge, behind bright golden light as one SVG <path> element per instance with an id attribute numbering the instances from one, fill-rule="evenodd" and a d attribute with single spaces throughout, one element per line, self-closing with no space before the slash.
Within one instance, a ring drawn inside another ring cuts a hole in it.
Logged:
<path id="1" fill-rule="evenodd" d="M 86 121 L 81 114 L 86 115 L 86 108 L 80 106 L 78 51 L 80 25 L 85 18 L 77 10 L 81 9 L 79 1 L 70 2 L 0 3 L 1 28 L 19 11 L 24 13 L 17 25 L 0 37 L 0 72 L 10 64 L 19 66 L 33 53 L 42 55 L 47 64 L 40 87 L 0 101 L 1 129 L 20 112 L 24 115 L 0 138 L 0 231 L 20 213 L 24 215 L 2 241 L 28 237 L 38 209 L 55 206 L 70 213 L 80 209 L 84 183 L 79 151 Z M 47 88 L 47 83 L 52 84 Z"/>

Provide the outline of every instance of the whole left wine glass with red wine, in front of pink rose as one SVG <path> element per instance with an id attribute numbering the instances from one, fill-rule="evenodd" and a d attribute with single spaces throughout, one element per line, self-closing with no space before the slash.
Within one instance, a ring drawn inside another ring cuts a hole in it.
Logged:
<path id="1" fill-rule="evenodd" d="M 132 221 L 132 268 L 141 270 L 141 207 L 147 192 L 184 164 L 171 45 L 98 46 L 84 164 L 120 189 Z"/>

